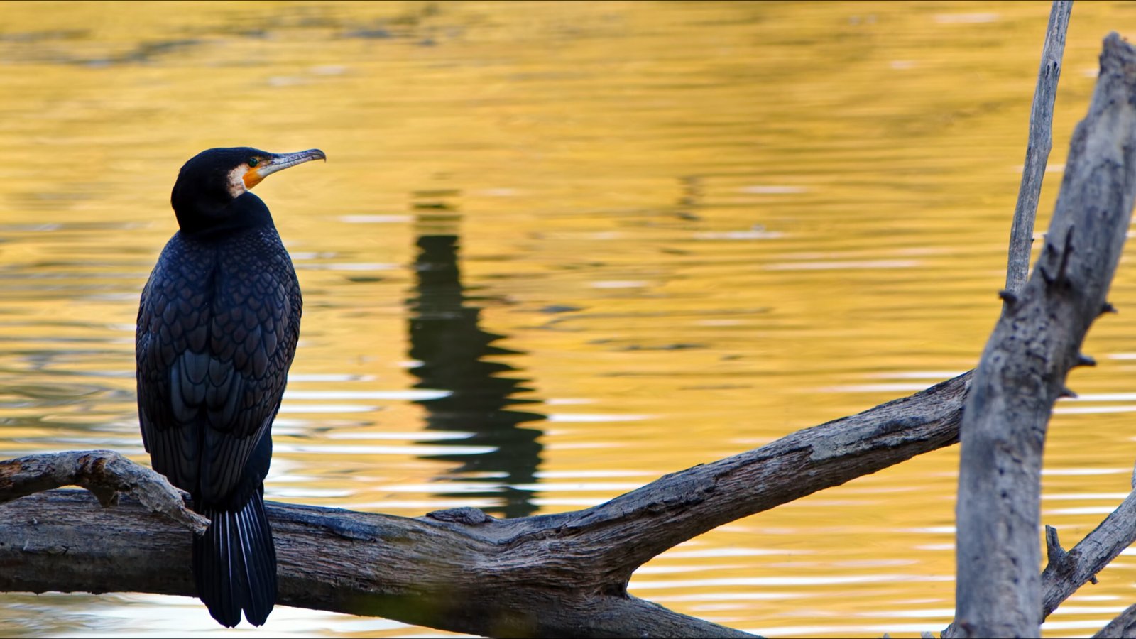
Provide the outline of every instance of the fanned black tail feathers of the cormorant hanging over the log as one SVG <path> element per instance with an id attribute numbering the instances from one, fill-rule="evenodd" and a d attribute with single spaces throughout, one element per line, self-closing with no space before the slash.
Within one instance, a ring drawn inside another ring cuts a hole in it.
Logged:
<path id="1" fill-rule="evenodd" d="M 193 581 L 198 597 L 222 625 L 262 625 L 276 604 L 276 548 L 259 491 L 240 512 L 203 506 L 212 522 L 193 538 Z"/>

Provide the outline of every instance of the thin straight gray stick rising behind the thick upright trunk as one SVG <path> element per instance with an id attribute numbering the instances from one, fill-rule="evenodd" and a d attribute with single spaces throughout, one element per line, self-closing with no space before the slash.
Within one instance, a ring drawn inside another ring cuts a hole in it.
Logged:
<path id="1" fill-rule="evenodd" d="M 1026 142 L 1026 164 L 1021 169 L 1018 204 L 1013 209 L 1010 227 L 1010 257 L 1005 268 L 1005 290 L 1020 293 L 1029 274 L 1029 247 L 1034 243 L 1034 219 L 1037 198 L 1042 194 L 1045 165 L 1053 147 L 1053 102 L 1058 97 L 1061 77 L 1061 57 L 1064 53 L 1066 32 L 1072 0 L 1055 0 L 1050 9 L 1050 24 L 1042 47 L 1042 65 L 1037 70 L 1034 106 L 1029 110 L 1029 138 Z"/>

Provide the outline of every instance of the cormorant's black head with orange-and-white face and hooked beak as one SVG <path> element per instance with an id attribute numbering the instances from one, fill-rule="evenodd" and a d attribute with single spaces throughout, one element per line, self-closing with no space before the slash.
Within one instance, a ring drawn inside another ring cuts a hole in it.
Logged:
<path id="1" fill-rule="evenodd" d="M 261 180 L 298 164 L 326 160 L 319 149 L 269 153 L 249 147 L 209 149 L 182 166 L 170 194 L 177 223 L 185 233 L 239 229 L 272 223 L 267 207 L 252 193 Z"/>

